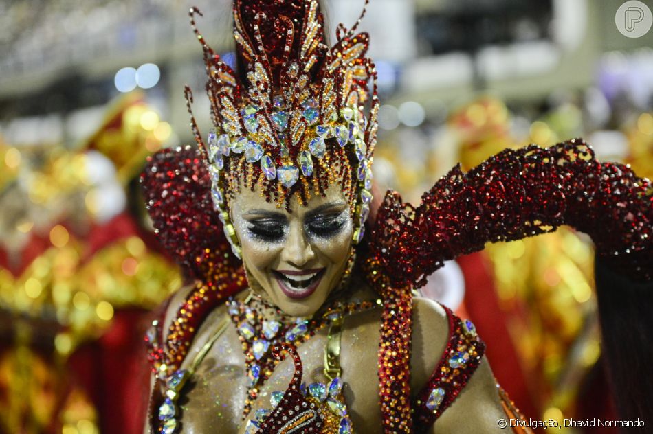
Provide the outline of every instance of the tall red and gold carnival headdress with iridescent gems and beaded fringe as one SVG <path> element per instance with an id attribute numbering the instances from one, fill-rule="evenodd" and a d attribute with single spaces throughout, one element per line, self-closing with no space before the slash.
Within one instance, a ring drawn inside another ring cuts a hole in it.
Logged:
<path id="1" fill-rule="evenodd" d="M 369 38 L 354 34 L 360 19 L 351 30 L 340 25 L 337 43 L 328 47 L 317 0 L 236 0 L 239 76 L 206 43 L 196 14 L 191 8 L 214 124 L 206 144 L 192 112 L 191 125 L 234 253 L 240 255 L 228 201 L 243 186 L 258 185 L 267 201 L 289 207 L 292 196 L 306 203 L 340 183 L 355 222 L 353 242 L 359 242 L 372 199 L 379 109 L 375 66 L 366 57 Z M 186 98 L 190 112 L 188 87 Z"/>

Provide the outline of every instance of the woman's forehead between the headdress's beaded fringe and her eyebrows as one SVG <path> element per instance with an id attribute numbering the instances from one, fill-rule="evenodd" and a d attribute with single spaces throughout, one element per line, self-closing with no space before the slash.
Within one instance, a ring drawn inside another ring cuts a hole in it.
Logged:
<path id="1" fill-rule="evenodd" d="M 290 198 L 290 212 L 288 213 L 285 202 L 281 206 L 278 206 L 276 201 L 268 202 L 265 199 L 265 194 L 259 185 L 254 186 L 254 190 L 249 188 L 241 188 L 239 192 L 236 192 L 232 199 L 232 208 L 236 212 L 247 212 L 251 209 L 264 209 L 266 211 L 275 211 L 283 212 L 287 214 L 297 214 L 302 215 L 307 212 L 311 212 L 313 209 L 316 209 L 322 205 L 327 204 L 342 204 L 346 205 L 347 200 L 344 192 L 342 191 L 342 186 L 339 183 L 331 183 L 326 190 L 324 190 L 324 196 L 322 194 L 315 194 L 311 190 L 311 198 L 307 201 L 305 205 L 301 205 L 298 201 L 298 197 L 294 194 Z"/>

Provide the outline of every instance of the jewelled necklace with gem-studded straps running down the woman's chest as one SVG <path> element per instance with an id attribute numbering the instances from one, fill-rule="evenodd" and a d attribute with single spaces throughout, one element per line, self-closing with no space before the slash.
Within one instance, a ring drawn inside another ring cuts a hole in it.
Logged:
<path id="1" fill-rule="evenodd" d="M 208 354 L 214 343 L 228 328 L 229 319 L 236 325 L 239 340 L 243 344 L 245 352 L 245 365 L 247 367 L 247 398 L 243 407 L 243 420 L 249 415 L 254 400 L 258 397 L 258 391 L 263 387 L 265 381 L 272 376 L 274 368 L 282 360 L 279 352 L 272 351 L 273 348 L 283 348 L 294 358 L 296 374 L 294 382 L 301 378 L 302 368 L 296 348 L 308 341 L 318 330 L 329 325 L 329 336 L 327 336 L 327 347 L 324 352 L 324 374 L 331 382 L 316 382 L 309 387 L 303 383 L 300 385 L 301 404 L 309 404 L 311 409 L 315 408 L 316 418 L 319 416 L 320 424 L 327 427 L 335 427 L 334 432 L 351 432 L 351 420 L 348 418 L 346 404 L 342 396 L 343 382 L 340 379 L 340 334 L 342 332 L 342 321 L 347 315 L 354 312 L 361 312 L 379 304 L 380 300 L 362 301 L 358 303 L 344 304 L 342 301 L 335 301 L 331 306 L 321 310 L 312 318 L 297 318 L 288 321 L 291 317 L 283 315 L 278 308 L 273 308 L 261 299 L 252 297 L 252 293 L 244 301 L 230 297 L 227 301 L 228 317 L 219 323 L 219 326 L 210 339 L 203 345 L 201 350 L 193 358 L 188 369 L 178 369 L 173 372 L 165 383 L 164 402 L 160 405 L 157 416 L 161 422 L 159 432 L 173 434 L 179 427 L 179 408 L 177 402 L 186 382 L 195 374 L 203 358 Z M 264 311 L 272 310 L 272 319 L 265 319 Z M 285 320 L 285 321 L 284 321 Z M 280 351 L 280 350 L 279 350 Z M 294 387 L 291 385 L 291 387 Z M 290 387 L 289 387 L 290 389 Z M 247 421 L 245 433 L 255 433 L 263 426 L 265 419 L 274 411 L 279 404 L 287 404 L 292 394 L 285 396 L 285 391 L 274 391 L 271 393 L 270 404 L 272 410 L 260 409 L 256 411 L 255 418 Z M 320 404 L 329 411 L 319 409 Z M 281 407 L 279 407 L 281 408 Z M 292 411 L 291 411 L 292 413 Z M 344 428 L 341 430 L 340 428 Z M 332 432 L 332 431 L 324 431 Z"/>

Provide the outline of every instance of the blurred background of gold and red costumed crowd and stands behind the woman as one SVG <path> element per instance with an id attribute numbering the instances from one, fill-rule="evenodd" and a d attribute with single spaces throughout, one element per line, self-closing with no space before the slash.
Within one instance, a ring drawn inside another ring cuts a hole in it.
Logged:
<path id="1" fill-rule="evenodd" d="M 327 0 L 351 25 L 363 1 Z M 373 0 L 381 102 L 373 171 L 413 203 L 457 162 L 584 137 L 653 175 L 653 32 L 619 33 L 619 0 Z M 182 278 L 153 237 L 138 176 L 208 130 L 187 12 L 233 58 L 227 0 L 0 3 L 0 433 L 136 433 L 142 336 Z M 495 244 L 423 294 L 476 323 L 527 418 L 610 418 L 582 234 Z M 615 431 L 562 429 L 565 433 Z"/>

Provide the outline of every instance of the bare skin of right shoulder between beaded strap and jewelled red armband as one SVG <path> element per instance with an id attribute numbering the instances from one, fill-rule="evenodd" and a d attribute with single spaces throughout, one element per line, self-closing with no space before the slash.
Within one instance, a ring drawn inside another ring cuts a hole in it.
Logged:
<path id="1" fill-rule="evenodd" d="M 410 386 L 414 396 L 426 385 L 445 351 L 449 337 L 449 321 L 447 312 L 435 301 L 415 297 L 412 324 Z"/>

